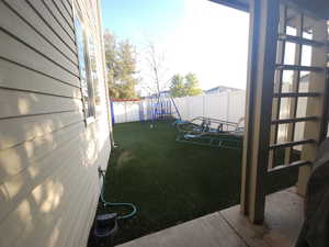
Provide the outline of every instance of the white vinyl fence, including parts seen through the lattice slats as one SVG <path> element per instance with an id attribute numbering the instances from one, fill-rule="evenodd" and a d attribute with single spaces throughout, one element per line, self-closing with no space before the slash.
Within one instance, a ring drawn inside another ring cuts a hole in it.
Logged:
<path id="1" fill-rule="evenodd" d="M 283 91 L 290 91 L 290 86 L 285 86 Z M 307 83 L 300 85 L 300 91 L 308 91 Z M 290 117 L 291 99 L 283 98 L 281 101 L 280 119 Z M 239 122 L 245 116 L 246 92 L 230 91 L 218 94 L 205 94 L 197 97 L 174 98 L 182 120 L 192 120 L 197 116 L 219 119 L 230 122 Z M 113 102 L 113 113 L 115 123 L 126 123 L 134 121 L 150 120 L 149 100 Z M 299 98 L 297 106 L 297 116 L 306 115 L 307 99 Z M 171 104 L 174 117 L 178 117 L 174 106 Z M 304 139 L 304 123 L 296 123 L 295 141 Z M 287 124 L 279 125 L 279 143 L 285 141 L 287 136 Z M 297 147 L 299 149 L 299 147 Z"/>

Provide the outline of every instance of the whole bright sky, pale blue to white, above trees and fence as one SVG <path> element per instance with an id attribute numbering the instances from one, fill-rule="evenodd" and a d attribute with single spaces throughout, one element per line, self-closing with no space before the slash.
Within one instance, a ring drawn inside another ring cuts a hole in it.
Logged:
<path id="1" fill-rule="evenodd" d="M 138 50 L 151 41 L 164 54 L 168 79 L 194 72 L 203 89 L 246 88 L 249 15 L 207 0 L 103 0 L 103 25 Z"/>

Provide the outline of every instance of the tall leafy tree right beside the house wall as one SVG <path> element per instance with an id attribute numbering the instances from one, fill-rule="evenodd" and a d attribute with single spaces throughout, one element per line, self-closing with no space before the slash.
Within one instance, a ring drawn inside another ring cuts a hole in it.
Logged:
<path id="1" fill-rule="evenodd" d="M 107 30 L 104 33 L 105 59 L 110 97 L 115 99 L 134 99 L 137 54 L 128 41 L 117 42 Z"/>

